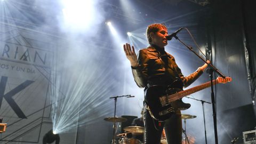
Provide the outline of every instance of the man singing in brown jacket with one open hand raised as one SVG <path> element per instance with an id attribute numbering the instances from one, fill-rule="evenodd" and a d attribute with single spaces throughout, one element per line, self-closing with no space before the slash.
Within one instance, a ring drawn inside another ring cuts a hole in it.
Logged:
<path id="1" fill-rule="evenodd" d="M 153 86 L 159 85 L 167 89 L 173 81 L 181 81 L 184 87 L 189 86 L 199 76 L 202 75 L 207 64 L 199 67 L 194 73 L 183 76 L 177 66 L 174 57 L 164 50 L 167 45 L 167 28 L 154 23 L 146 30 L 149 46 L 138 52 L 138 57 L 134 52 L 134 47 L 124 44 L 126 58 L 131 62 L 132 74 L 139 87 L 144 87 L 144 92 Z M 207 61 L 208 63 L 210 61 Z M 143 121 L 145 123 L 144 143 L 160 143 L 163 129 L 166 133 L 168 143 L 180 144 L 182 140 L 182 122 L 180 110 L 175 111 L 165 122 L 158 122 L 152 118 L 147 109 L 147 101 L 144 101 Z"/>

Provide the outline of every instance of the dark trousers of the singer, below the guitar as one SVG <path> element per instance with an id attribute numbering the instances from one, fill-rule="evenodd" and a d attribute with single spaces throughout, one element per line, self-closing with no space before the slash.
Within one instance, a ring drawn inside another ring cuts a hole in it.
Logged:
<path id="1" fill-rule="evenodd" d="M 143 111 L 143 121 L 145 124 L 144 143 L 158 144 L 161 141 L 162 131 L 164 129 L 168 144 L 181 144 L 182 141 L 182 122 L 181 113 L 175 113 L 165 122 L 159 123 L 153 119 L 146 109 L 146 103 Z"/>

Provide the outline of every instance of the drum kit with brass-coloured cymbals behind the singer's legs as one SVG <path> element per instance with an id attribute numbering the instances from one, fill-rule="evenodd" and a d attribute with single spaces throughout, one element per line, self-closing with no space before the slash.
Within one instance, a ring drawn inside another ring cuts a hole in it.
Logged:
<path id="1" fill-rule="evenodd" d="M 185 141 L 182 141 L 182 143 L 193 144 L 194 142 L 190 141 L 187 137 L 187 134 L 186 134 L 186 119 L 196 118 L 196 116 L 182 114 L 181 118 L 184 119 L 185 130 L 183 130 L 183 133 L 185 134 L 185 137 L 186 137 Z M 123 118 L 123 117 L 106 117 L 106 118 L 104 118 L 104 120 L 107 121 L 107 122 L 112 122 L 112 123 L 127 121 L 127 119 Z M 120 134 L 116 135 L 119 138 L 114 143 L 116 143 L 116 144 L 142 144 L 142 142 L 140 140 L 134 139 L 134 138 L 127 138 L 126 135 L 129 134 L 129 133 L 131 133 L 132 136 L 143 135 L 144 127 L 141 127 L 141 126 L 126 126 L 126 127 L 124 127 L 124 131 L 125 131 L 125 133 L 120 133 Z M 167 143 L 165 137 L 162 138 L 161 143 L 162 144 Z"/>

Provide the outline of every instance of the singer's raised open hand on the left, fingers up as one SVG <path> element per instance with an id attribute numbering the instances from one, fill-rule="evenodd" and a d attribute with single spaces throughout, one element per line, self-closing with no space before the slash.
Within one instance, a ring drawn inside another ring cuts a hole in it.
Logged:
<path id="1" fill-rule="evenodd" d="M 125 52 L 126 58 L 131 62 L 131 66 L 138 67 L 137 55 L 134 51 L 134 47 L 132 46 L 132 49 L 131 49 L 130 44 L 128 43 L 124 44 L 124 52 Z"/>

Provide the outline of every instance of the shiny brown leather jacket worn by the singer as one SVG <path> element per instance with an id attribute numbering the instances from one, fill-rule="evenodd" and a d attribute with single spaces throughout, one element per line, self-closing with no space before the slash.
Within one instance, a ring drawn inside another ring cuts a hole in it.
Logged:
<path id="1" fill-rule="evenodd" d="M 159 47 L 149 46 L 139 51 L 139 67 L 132 68 L 134 80 L 139 87 L 167 86 L 177 78 L 183 82 L 183 87 L 187 87 L 202 75 L 203 71 L 198 68 L 194 73 L 183 76 L 174 57 L 164 49 L 161 50 L 162 52 Z"/>

